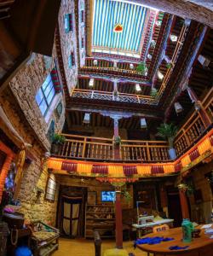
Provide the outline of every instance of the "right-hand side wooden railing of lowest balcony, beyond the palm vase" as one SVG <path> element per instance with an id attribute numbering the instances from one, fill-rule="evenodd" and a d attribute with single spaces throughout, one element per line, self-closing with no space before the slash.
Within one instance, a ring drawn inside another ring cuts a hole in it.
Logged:
<path id="1" fill-rule="evenodd" d="M 202 106 L 205 113 L 207 114 L 207 118 L 212 124 L 213 88 L 204 97 L 204 100 L 202 101 Z M 187 123 L 181 127 L 181 130 L 178 131 L 176 135 L 176 154 L 179 156 L 184 151 L 186 151 L 187 148 L 190 148 L 193 143 L 195 143 L 200 137 L 202 137 L 204 131 L 206 131 L 207 128 L 208 126 L 205 125 L 204 117 L 199 112 L 194 112 L 191 117 L 187 119 Z"/>

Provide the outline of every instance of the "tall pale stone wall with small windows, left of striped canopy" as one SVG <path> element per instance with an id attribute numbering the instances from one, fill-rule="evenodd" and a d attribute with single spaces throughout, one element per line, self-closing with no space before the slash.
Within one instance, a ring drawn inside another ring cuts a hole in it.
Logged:
<path id="1" fill-rule="evenodd" d="M 59 29 L 60 29 L 60 45 L 63 58 L 63 65 L 66 74 L 66 84 L 69 93 L 78 82 L 78 55 L 77 55 L 77 38 L 76 38 L 76 20 L 75 20 L 75 4 L 74 0 L 62 1 L 59 12 Z M 65 31 L 65 15 L 72 14 L 72 32 Z M 69 58 L 74 53 L 75 65 L 69 67 Z"/>

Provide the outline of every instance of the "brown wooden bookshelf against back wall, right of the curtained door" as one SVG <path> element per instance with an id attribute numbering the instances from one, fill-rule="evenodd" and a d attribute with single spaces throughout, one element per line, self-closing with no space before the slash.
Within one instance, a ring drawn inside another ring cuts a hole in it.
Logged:
<path id="1" fill-rule="evenodd" d="M 85 237 L 93 238 L 97 230 L 101 238 L 114 237 L 115 212 L 113 205 L 87 205 L 85 214 Z"/>

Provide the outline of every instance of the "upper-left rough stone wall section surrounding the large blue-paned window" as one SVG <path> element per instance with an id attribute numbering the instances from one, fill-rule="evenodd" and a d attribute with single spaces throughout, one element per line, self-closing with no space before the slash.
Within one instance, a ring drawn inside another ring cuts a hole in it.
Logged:
<path id="1" fill-rule="evenodd" d="M 55 119 L 55 130 L 60 131 L 65 121 L 65 110 L 63 108 L 60 119 L 55 115 L 54 109 L 50 113 L 48 119 L 44 119 L 40 109 L 37 106 L 35 96 L 37 90 L 41 87 L 47 75 L 55 66 L 52 59 L 49 68 L 45 66 L 43 55 L 35 55 L 34 60 L 25 67 L 20 68 L 19 72 L 10 81 L 9 87 L 14 93 L 16 100 L 19 102 L 20 108 L 26 116 L 27 121 L 36 132 L 37 138 L 43 143 L 43 146 L 49 150 L 50 143 L 46 137 L 49 125 L 52 119 Z M 58 102 L 64 102 L 61 94 L 55 96 L 56 107 Z M 52 105 L 52 104 L 51 104 Z M 64 105 L 64 104 L 63 104 Z"/>

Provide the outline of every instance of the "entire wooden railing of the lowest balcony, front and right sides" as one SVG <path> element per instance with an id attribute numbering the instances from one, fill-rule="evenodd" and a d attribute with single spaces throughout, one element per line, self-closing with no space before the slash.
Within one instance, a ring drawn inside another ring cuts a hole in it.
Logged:
<path id="1" fill-rule="evenodd" d="M 202 101 L 202 108 L 212 124 L 213 119 L 213 88 Z M 183 154 L 188 148 L 204 136 L 204 132 L 210 128 L 206 125 L 204 116 L 200 112 L 194 112 L 187 119 L 187 123 L 178 131 L 175 148 L 177 156 Z M 79 160 L 115 160 L 115 149 L 110 138 L 83 137 L 78 135 L 67 135 L 66 142 L 60 148 L 56 157 Z M 122 140 L 119 147 L 120 160 L 140 162 L 165 162 L 169 161 L 168 143 L 164 141 L 135 141 Z M 118 155 L 118 154 L 117 154 Z"/>

